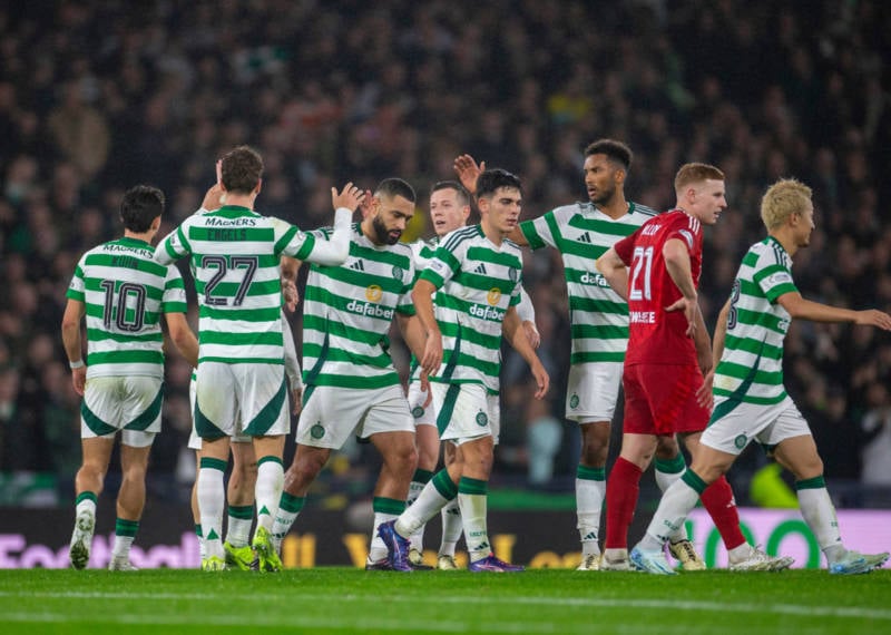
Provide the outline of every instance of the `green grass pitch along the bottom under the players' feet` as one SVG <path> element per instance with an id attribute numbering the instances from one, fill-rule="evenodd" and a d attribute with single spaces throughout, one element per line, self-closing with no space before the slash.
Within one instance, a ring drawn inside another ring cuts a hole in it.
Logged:
<path id="1" fill-rule="evenodd" d="M 0 633 L 891 633 L 891 569 L 0 572 Z"/>

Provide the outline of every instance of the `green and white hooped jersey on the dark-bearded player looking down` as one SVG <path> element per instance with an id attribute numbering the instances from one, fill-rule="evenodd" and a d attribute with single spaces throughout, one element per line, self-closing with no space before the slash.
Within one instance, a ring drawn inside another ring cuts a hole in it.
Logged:
<path id="1" fill-rule="evenodd" d="M 375 245 L 355 224 L 346 262 L 310 268 L 303 295 L 303 382 L 356 389 L 398 385 L 388 333 L 396 313 L 414 315 L 413 282 L 409 245 Z"/>

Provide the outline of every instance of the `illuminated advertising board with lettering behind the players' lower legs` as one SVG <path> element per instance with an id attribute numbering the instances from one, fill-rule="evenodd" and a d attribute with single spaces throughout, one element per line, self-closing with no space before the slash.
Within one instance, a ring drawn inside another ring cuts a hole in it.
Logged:
<path id="1" fill-rule="evenodd" d="M 107 506 L 104 506 L 107 507 Z M 822 555 L 797 510 L 741 509 L 743 533 L 771 554 L 795 558 L 795 567 L 822 566 Z M 0 514 L 0 568 L 62 568 L 68 566 L 68 539 L 74 512 L 70 509 L 4 508 Z M 648 520 L 636 518 L 630 539 L 636 540 Z M 363 508 L 346 511 L 309 509 L 301 515 L 285 540 L 282 560 L 286 567 L 364 565 L 371 518 Z M 891 510 L 839 510 L 845 543 L 875 553 L 888 549 L 884 528 Z M 429 527 L 424 544 L 427 558 L 439 546 L 439 522 Z M 575 515 L 568 511 L 495 511 L 489 527 L 492 547 L 500 557 L 539 567 L 575 567 L 580 560 Z M 90 567 L 105 567 L 114 543 L 115 519 L 100 508 Z M 131 558 L 140 568 L 198 566 L 198 543 L 190 530 L 188 509 L 155 506 L 147 509 Z M 726 551 L 711 519 L 695 509 L 688 528 L 709 567 L 726 566 Z M 459 553 L 460 564 L 466 556 Z"/>

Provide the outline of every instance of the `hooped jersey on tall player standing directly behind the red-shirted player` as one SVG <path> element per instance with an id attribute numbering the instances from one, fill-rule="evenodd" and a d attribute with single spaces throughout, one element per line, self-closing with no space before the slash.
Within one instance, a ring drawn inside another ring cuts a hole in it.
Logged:
<path id="1" fill-rule="evenodd" d="M 609 287 L 594 263 L 614 243 L 633 234 L 656 214 L 645 205 L 629 203 L 628 213 L 614 221 L 591 203 L 576 203 L 520 223 L 531 248 L 550 246 L 562 256 L 569 295 L 571 364 L 625 360 L 628 304 Z"/>

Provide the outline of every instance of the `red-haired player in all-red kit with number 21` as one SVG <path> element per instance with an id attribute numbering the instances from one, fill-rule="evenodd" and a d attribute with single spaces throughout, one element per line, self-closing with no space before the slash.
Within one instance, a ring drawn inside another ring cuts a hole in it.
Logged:
<path id="1" fill-rule="evenodd" d="M 628 526 L 657 438 L 677 433 L 695 453 L 711 414 L 712 346 L 696 290 L 703 225 L 714 225 L 727 207 L 724 173 L 686 164 L 675 176 L 675 209 L 646 222 L 597 261 L 609 285 L 627 299 L 630 318 L 623 372 L 625 421 L 621 451 L 607 481 L 603 569 L 630 568 Z M 727 547 L 731 568 L 782 568 L 783 563 L 746 543 L 725 478 L 706 489 L 702 500 Z"/>

